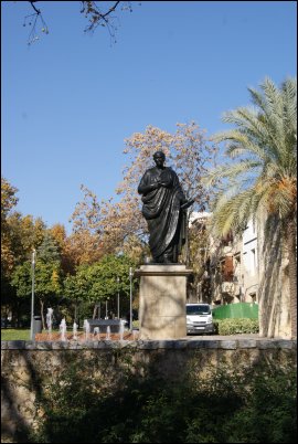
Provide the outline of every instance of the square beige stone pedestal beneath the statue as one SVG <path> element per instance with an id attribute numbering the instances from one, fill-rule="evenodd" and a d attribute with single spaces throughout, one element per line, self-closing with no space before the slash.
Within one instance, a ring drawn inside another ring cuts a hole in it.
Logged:
<path id="1" fill-rule="evenodd" d="M 187 336 L 185 265 L 141 265 L 139 323 L 140 339 L 179 339 Z"/>

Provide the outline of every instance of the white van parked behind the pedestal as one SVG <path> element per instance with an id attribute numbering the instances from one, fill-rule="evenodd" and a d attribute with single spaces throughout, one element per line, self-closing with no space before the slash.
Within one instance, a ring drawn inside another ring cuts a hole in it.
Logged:
<path id="1" fill-rule="evenodd" d="M 211 306 L 209 304 L 187 304 L 187 332 L 213 332 Z"/>

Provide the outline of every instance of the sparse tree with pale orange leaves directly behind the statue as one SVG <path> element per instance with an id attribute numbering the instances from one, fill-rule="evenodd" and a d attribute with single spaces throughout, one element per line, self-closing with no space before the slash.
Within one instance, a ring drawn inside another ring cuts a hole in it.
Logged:
<path id="1" fill-rule="evenodd" d="M 125 141 L 124 152 L 128 162 L 124 168 L 124 179 L 116 189 L 119 200 L 98 202 L 95 193 L 82 186 L 84 199 L 76 205 L 72 215 L 72 239 L 74 242 L 84 242 L 91 251 L 91 256 L 94 254 L 93 246 L 97 245 L 97 255 L 127 252 L 128 255 L 134 255 L 131 258 L 142 261 L 142 256 L 149 254 L 148 230 L 141 214 L 141 200 L 137 188 L 145 170 L 153 165 L 155 151 L 162 150 L 166 154 L 167 165 L 177 171 L 185 195 L 194 200 L 188 214 L 190 218 L 192 212 L 202 212 L 209 208 L 210 192 L 203 187 L 202 178 L 207 167 L 213 165 L 217 150 L 214 145 L 207 142 L 205 131 L 194 121 L 177 124 L 174 134 L 148 126 L 145 133 L 135 133 Z M 198 225 L 192 230 L 192 239 L 196 244 L 203 229 Z M 193 290 L 204 271 L 203 264 L 196 267 L 196 256 L 194 249 L 184 249 L 182 260 L 198 272 L 192 284 Z"/>

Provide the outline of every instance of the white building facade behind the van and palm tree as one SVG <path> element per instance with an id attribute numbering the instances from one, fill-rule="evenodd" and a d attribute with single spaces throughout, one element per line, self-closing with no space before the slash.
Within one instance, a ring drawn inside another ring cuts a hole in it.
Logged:
<path id="1" fill-rule="evenodd" d="M 191 224 L 206 223 L 210 213 L 196 213 Z M 251 220 L 241 236 L 209 239 L 205 272 L 198 285 L 198 302 L 212 305 L 258 303 L 258 233 Z M 207 292 L 205 290 L 206 288 Z"/>

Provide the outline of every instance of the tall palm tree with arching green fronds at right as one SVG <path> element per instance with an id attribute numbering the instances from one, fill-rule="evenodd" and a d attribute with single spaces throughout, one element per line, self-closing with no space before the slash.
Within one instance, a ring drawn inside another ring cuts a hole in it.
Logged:
<path id="1" fill-rule="evenodd" d="M 213 232 L 241 232 L 251 218 L 266 212 L 277 221 L 288 255 L 291 336 L 297 328 L 297 80 L 278 88 L 270 78 L 262 91 L 248 88 L 254 106 L 224 113 L 230 129 L 212 137 L 227 141 L 230 163 L 211 171 L 206 182 L 222 181 L 213 205 Z"/>

